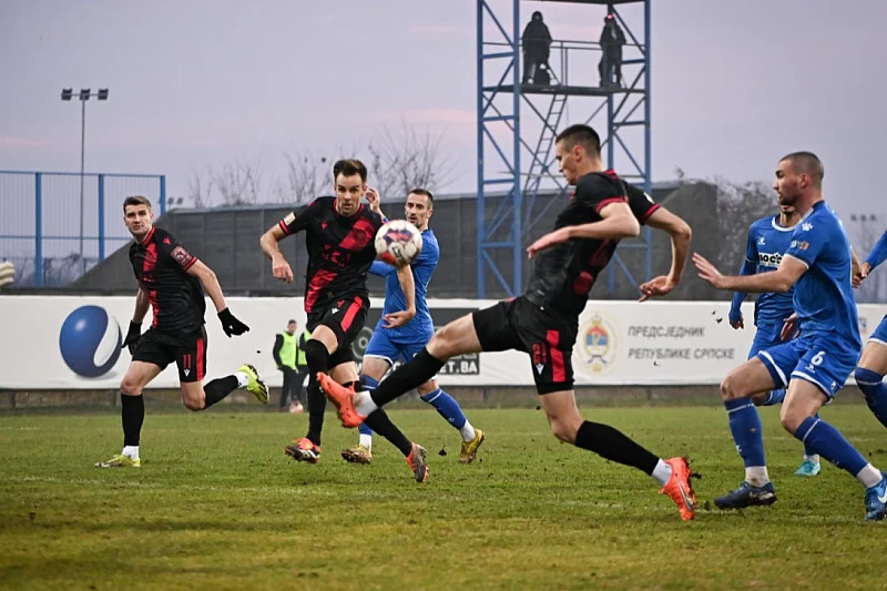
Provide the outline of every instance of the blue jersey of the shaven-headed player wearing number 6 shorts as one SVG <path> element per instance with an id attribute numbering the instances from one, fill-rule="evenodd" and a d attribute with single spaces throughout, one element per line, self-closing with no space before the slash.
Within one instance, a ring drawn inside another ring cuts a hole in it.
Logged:
<path id="1" fill-rule="evenodd" d="M 795 284 L 794 305 L 802 335 L 838 335 L 858 350 L 863 340 L 850 284 L 850 241 L 837 214 L 824 201 L 795 226 L 785 256 L 807 267 Z"/>

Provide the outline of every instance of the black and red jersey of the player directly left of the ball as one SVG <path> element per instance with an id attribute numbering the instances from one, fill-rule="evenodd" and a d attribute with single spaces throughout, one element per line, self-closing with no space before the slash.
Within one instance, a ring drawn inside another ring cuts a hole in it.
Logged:
<path id="1" fill-rule="evenodd" d="M 287 234 L 305 231 L 308 269 L 305 312 L 317 312 L 346 296 L 369 299 L 367 271 L 376 258 L 381 216 L 360 205 L 351 216 L 336 211 L 336 197 L 318 197 L 279 222 Z"/>

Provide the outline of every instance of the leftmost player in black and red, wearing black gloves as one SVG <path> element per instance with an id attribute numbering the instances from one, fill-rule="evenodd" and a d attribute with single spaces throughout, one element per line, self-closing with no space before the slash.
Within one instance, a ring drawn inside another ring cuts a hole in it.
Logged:
<path id="1" fill-rule="evenodd" d="M 173 361 L 179 366 L 182 401 L 191 410 L 208 408 L 236 388 L 247 388 L 261 403 L 268 401 L 268 388 L 251 365 L 203 386 L 206 375 L 203 289 L 213 300 L 228 337 L 242 335 L 249 327 L 231 314 L 215 273 L 169 232 L 154 227 L 150 201 L 142 196 L 126 197 L 123 221 L 134 238 L 130 262 L 139 282 L 135 312 L 123 342 L 123 348 L 132 354 L 132 364 L 120 383 L 123 451 L 96 463 L 99 468 L 141 466 L 139 438 L 145 417 L 142 390 Z M 154 309 L 154 318 L 151 328 L 142 334 L 142 319 L 149 306 Z"/>

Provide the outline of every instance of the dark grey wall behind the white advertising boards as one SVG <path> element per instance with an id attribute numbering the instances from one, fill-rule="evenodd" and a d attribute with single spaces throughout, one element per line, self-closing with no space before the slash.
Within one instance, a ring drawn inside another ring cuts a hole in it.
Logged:
<path id="1" fill-rule="evenodd" d="M 563 197 L 561 197 L 563 198 Z M 689 184 L 676 191 L 654 191 L 654 198 L 670 210 L 687 220 L 694 228 L 694 245 L 703 254 L 716 251 L 716 192 L 708 184 Z M 487 215 L 492 217 L 500 198 L 487 200 Z M 530 240 L 550 231 L 553 226 L 560 204 L 555 196 L 540 195 L 532 206 L 529 218 L 532 221 Z M 399 204 L 389 204 L 387 213 L 397 216 Z M 206 264 L 218 276 L 222 287 L 228 294 L 243 295 L 302 295 L 304 291 L 307 255 L 304 247 L 304 235 L 297 235 L 282 243 L 282 249 L 293 265 L 296 285 L 288 286 L 271 276 L 271 264 L 258 247 L 258 237 L 288 213 L 288 208 L 266 206 L 254 208 L 210 210 L 210 211 L 174 211 L 157 222 L 160 227 L 169 230 L 176 238 Z M 493 236 L 493 240 L 506 237 L 507 225 Z M 435 203 L 435 215 L 431 226 L 441 246 L 441 259 L 429 288 L 431 297 L 477 297 L 477 200 L 440 198 Z M 623 241 L 618 254 L 636 281 L 644 278 L 645 259 L 643 248 L 631 248 L 638 241 Z M 671 248 L 666 235 L 654 232 L 655 252 L 653 255 L 654 274 L 665 273 L 671 261 Z M 707 246 L 707 248 L 706 248 Z M 496 254 L 500 268 L 510 268 L 511 253 L 502 251 Z M 738 263 L 736 263 L 738 265 Z M 631 299 L 636 297 L 635 285 L 611 265 L 614 273 L 614 291 L 610 297 Z M 527 262 L 523 276 L 529 276 L 530 262 Z M 690 283 L 690 282 L 687 282 Z M 694 282 L 699 283 L 699 282 Z M 608 282 L 601 277 L 592 291 L 592 297 L 608 297 Z M 499 286 L 491 273 L 487 276 L 487 297 L 503 297 L 507 294 Z M 378 278 L 370 278 L 374 294 L 384 293 L 384 284 Z M 102 293 L 132 293 L 135 289 L 132 269 L 128 261 L 126 248 L 118 251 L 106 261 L 77 281 L 69 291 L 95 291 Z M 681 287 L 676 298 L 721 298 L 707 286 L 689 285 Z M 684 292 L 686 289 L 686 292 Z"/>

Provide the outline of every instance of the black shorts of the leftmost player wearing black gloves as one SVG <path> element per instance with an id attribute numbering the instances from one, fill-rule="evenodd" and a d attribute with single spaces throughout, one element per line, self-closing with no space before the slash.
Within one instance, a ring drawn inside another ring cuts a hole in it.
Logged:
<path id="1" fill-rule="evenodd" d="M 179 381 L 203 381 L 206 376 L 206 328 L 193 335 L 169 335 L 149 328 L 135 345 L 133 361 L 154 364 L 161 369 L 175 361 Z"/>

